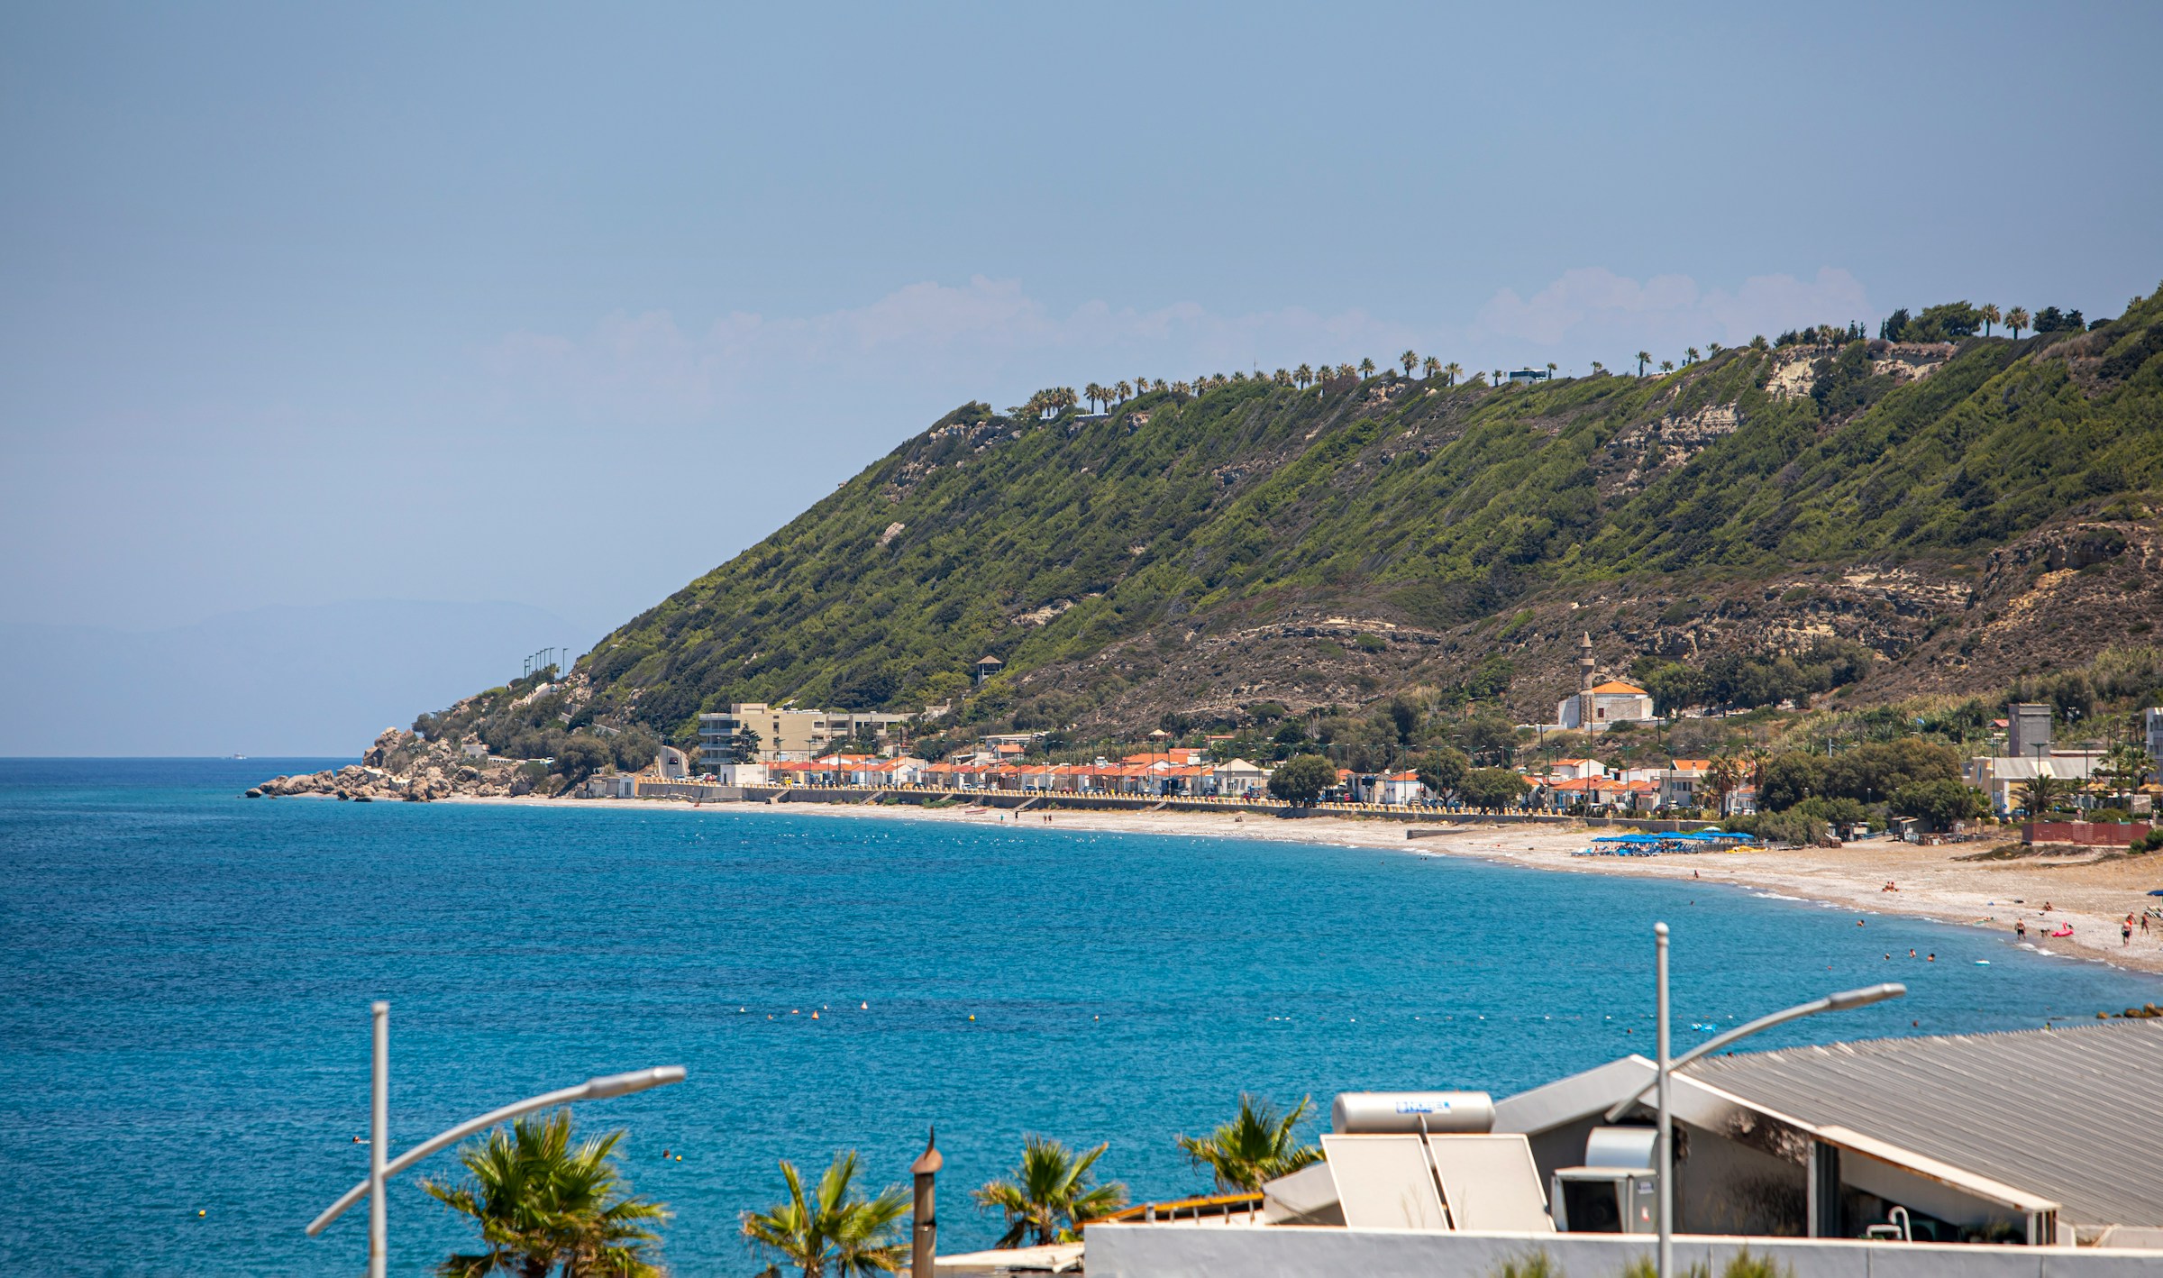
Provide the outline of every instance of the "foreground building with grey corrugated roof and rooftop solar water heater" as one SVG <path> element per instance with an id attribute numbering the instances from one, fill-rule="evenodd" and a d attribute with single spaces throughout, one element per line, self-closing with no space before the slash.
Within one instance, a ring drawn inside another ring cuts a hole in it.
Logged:
<path id="1" fill-rule="evenodd" d="M 2163 1131 L 2163 1021 L 1707 1055 L 1672 1075 L 1672 1172 L 1655 1105 L 1635 1053 L 1499 1101 L 1343 1092 L 1326 1161 L 1133 1204 L 1090 1224 L 1086 1265 L 1423 1278 L 1540 1254 L 1624 1274 L 1650 1259 L 1668 1174 L 1676 1272 L 1743 1250 L 1793 1278 L 2163 1269 L 2163 1163 L 2115 1153 Z"/>

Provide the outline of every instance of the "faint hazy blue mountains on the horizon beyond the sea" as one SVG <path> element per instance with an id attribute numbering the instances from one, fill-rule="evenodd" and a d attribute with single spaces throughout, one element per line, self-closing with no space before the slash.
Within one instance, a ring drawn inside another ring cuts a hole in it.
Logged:
<path id="1" fill-rule="evenodd" d="M 523 603 L 370 599 L 123 631 L 0 625 L 0 755 L 359 755 L 415 705 L 580 642 Z"/>

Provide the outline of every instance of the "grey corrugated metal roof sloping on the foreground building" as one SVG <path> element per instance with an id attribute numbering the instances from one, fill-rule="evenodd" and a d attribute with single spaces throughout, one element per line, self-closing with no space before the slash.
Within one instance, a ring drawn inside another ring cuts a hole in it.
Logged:
<path id="1" fill-rule="evenodd" d="M 1791 1047 L 1685 1077 L 2046 1194 L 2072 1224 L 2163 1226 L 2163 1021 Z"/>

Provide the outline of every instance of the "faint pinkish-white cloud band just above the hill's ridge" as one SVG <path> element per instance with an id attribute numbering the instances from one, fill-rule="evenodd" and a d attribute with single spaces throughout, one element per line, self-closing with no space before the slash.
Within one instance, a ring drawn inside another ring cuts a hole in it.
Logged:
<path id="1" fill-rule="evenodd" d="M 1754 333 L 1869 316 L 1854 275 L 1750 277 L 1700 288 L 1685 275 L 1644 281 L 1605 268 L 1566 270 L 1521 296 L 1501 290 L 1467 322 L 1404 322 L 1361 309 L 1283 307 L 1239 316 L 1198 303 L 1157 309 L 1090 301 L 1056 314 L 1017 279 L 911 283 L 863 307 L 820 316 L 725 314 L 703 329 L 671 311 L 612 314 L 580 337 L 510 333 L 487 368 L 510 400 L 539 398 L 599 417 L 722 420 L 789 387 L 861 383 L 895 389 L 976 387 L 1019 398 L 1038 385 L 1391 359 L 1415 348 L 1469 368 L 1555 359 L 1624 361 L 1637 348 L 1741 344 Z"/>

